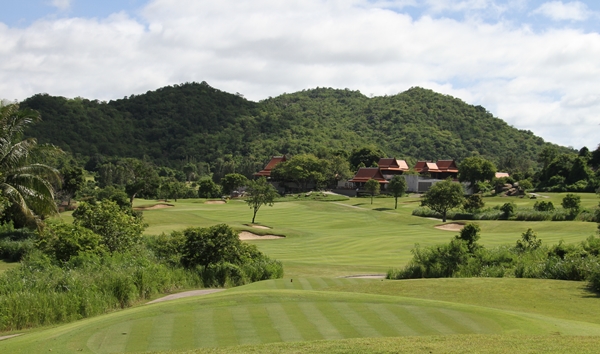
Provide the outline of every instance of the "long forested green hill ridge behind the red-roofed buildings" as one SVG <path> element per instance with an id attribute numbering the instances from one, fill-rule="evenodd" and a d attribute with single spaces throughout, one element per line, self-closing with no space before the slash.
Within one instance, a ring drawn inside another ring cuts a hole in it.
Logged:
<path id="1" fill-rule="evenodd" d="M 535 160 L 546 144 L 481 106 L 422 88 L 373 98 L 316 88 L 255 103 L 203 82 L 110 102 L 39 94 L 21 106 L 42 114 L 27 132 L 40 143 L 84 156 L 148 156 L 164 165 L 226 155 L 264 161 L 362 145 L 398 158 Z"/>

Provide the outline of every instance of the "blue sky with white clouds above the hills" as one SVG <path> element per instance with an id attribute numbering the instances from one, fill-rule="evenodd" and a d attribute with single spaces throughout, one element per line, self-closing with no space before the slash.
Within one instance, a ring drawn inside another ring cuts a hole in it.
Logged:
<path id="1" fill-rule="evenodd" d="M 260 101 L 419 86 L 579 149 L 600 143 L 600 2 L 0 0 L 0 99 L 206 81 Z"/>

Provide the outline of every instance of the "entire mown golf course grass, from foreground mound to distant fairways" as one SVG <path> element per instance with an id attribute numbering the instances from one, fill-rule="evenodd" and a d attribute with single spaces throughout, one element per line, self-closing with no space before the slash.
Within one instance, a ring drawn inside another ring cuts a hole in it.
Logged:
<path id="1" fill-rule="evenodd" d="M 547 195 L 537 200 L 560 205 L 562 194 Z M 532 206 L 536 200 L 485 201 Z M 596 195 L 582 194 L 584 207 L 597 202 Z M 385 273 L 404 265 L 415 243 L 446 243 L 456 234 L 435 229 L 439 220 L 413 217 L 418 198 L 401 198 L 397 210 L 393 198 L 375 198 L 373 205 L 369 198 L 276 203 L 257 215 L 269 230 L 246 226 L 252 211 L 242 201 L 172 204 L 144 211 L 147 234 L 224 222 L 285 235 L 252 241 L 284 263 L 285 278 L 30 330 L 0 341 L 0 352 L 592 353 L 600 344 L 598 295 L 582 282 L 338 278 Z M 596 232 L 595 223 L 577 221 L 478 223 L 485 246 L 513 244 L 527 228 L 550 244 Z"/>

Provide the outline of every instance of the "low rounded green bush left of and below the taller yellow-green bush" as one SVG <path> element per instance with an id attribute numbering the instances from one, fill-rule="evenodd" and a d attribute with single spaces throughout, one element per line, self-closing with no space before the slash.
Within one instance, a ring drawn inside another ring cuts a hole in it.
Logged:
<path id="1" fill-rule="evenodd" d="M 37 243 L 38 248 L 61 262 L 82 253 L 105 252 L 102 237 L 80 225 L 54 222 L 47 225 Z"/>

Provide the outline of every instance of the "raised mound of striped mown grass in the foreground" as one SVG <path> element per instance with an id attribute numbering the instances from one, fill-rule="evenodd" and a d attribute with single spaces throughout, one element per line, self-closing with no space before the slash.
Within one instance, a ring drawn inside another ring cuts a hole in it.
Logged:
<path id="1" fill-rule="evenodd" d="M 0 352 L 118 353 L 361 337 L 559 333 L 598 336 L 600 325 L 401 296 L 238 290 L 32 331 L 0 342 Z"/>

